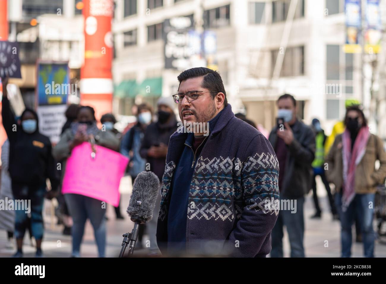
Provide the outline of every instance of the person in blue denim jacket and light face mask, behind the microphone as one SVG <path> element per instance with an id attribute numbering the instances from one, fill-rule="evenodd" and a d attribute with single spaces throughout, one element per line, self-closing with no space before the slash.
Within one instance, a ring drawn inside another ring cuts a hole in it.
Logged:
<path id="1" fill-rule="evenodd" d="M 146 159 L 139 154 L 141 143 L 145 135 L 145 130 L 152 120 L 152 107 L 148 104 L 140 104 L 137 106 L 137 123 L 129 129 L 122 137 L 120 145 L 120 153 L 130 159 L 128 165 L 128 173 L 131 176 L 131 182 L 140 172 L 146 170 Z M 142 248 L 142 237 L 144 235 L 146 225 L 139 226 L 138 242 L 135 248 Z"/>

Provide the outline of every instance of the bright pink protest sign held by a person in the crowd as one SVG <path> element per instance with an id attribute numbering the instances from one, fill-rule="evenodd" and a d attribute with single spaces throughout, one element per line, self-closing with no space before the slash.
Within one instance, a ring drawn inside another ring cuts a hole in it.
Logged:
<path id="1" fill-rule="evenodd" d="M 124 176 L 129 159 L 113 150 L 95 145 L 95 158 L 91 145 L 84 142 L 76 146 L 67 159 L 62 193 L 75 193 L 119 204 L 119 182 Z"/>

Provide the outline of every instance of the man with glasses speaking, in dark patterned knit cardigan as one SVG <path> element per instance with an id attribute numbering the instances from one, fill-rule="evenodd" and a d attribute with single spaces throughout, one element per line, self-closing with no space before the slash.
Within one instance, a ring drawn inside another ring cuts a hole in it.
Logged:
<path id="1" fill-rule="evenodd" d="M 164 255 L 265 257 L 279 213 L 274 150 L 234 116 L 219 73 L 191 68 L 178 81 L 184 126 L 168 145 L 158 246 Z"/>

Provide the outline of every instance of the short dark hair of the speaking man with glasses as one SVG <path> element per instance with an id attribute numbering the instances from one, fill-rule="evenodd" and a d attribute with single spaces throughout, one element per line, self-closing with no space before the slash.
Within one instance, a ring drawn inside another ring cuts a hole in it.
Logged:
<path id="1" fill-rule="evenodd" d="M 182 81 L 197 77 L 204 77 L 201 83 L 201 87 L 210 91 L 216 91 L 217 93 L 223 93 L 225 95 L 224 107 L 226 107 L 228 104 L 227 93 L 225 92 L 224 84 L 222 82 L 220 73 L 218 73 L 217 71 L 205 67 L 195 67 L 181 72 L 177 76 L 177 79 L 179 85 L 181 85 Z M 211 93 L 211 95 L 212 99 L 214 99 L 216 96 L 214 92 Z"/>

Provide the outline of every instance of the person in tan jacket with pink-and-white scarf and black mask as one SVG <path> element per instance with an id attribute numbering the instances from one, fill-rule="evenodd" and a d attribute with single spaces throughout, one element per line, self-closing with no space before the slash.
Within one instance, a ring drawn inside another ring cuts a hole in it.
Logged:
<path id="1" fill-rule="evenodd" d="M 352 223 L 358 217 L 364 256 L 374 257 L 375 232 L 372 227 L 376 186 L 386 178 L 383 141 L 369 132 L 366 118 L 358 106 L 346 109 L 346 126 L 336 136 L 325 162 L 328 181 L 335 184 L 335 203 L 340 215 L 342 257 L 351 256 Z M 379 161 L 376 170 L 375 163 Z"/>

